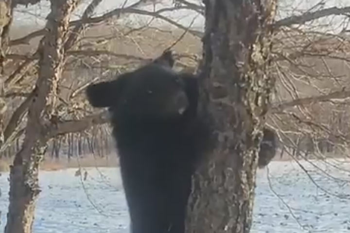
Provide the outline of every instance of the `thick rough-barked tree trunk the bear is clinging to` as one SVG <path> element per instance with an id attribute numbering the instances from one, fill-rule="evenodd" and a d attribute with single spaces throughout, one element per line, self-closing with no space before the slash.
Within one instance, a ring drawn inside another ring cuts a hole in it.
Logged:
<path id="1" fill-rule="evenodd" d="M 248 233 L 277 0 L 204 0 L 201 109 L 217 139 L 193 177 L 188 233 Z"/>

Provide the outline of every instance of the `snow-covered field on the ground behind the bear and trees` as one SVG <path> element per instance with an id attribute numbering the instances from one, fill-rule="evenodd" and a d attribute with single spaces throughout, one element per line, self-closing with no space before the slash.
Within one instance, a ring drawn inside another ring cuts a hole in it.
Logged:
<path id="1" fill-rule="evenodd" d="M 258 171 L 251 233 L 350 233 L 350 163 L 272 162 Z M 35 233 L 127 233 L 129 218 L 118 168 L 42 171 Z M 268 178 L 269 177 L 269 178 Z M 310 179 L 310 177 L 312 179 Z M 1 224 L 8 173 L 0 176 Z M 2 231 L 2 230 L 1 230 Z"/>

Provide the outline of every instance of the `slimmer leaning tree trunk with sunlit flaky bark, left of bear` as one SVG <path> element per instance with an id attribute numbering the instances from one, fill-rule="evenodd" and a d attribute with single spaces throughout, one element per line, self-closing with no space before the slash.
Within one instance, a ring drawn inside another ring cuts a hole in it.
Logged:
<path id="1" fill-rule="evenodd" d="M 46 150 L 45 135 L 49 116 L 54 109 L 55 88 L 64 65 L 63 42 L 68 32 L 70 14 L 79 0 L 51 0 L 46 34 L 39 45 L 38 79 L 34 98 L 28 109 L 26 134 L 21 150 L 10 170 L 10 204 L 5 233 L 31 233 L 35 201 L 40 192 L 39 162 Z M 44 113 L 49 105 L 49 113 Z"/>

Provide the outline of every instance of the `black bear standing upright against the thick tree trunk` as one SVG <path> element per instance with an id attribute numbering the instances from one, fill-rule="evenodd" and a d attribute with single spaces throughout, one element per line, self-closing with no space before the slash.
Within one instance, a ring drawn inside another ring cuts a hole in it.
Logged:
<path id="1" fill-rule="evenodd" d="M 172 70 L 170 51 L 116 80 L 91 84 L 94 107 L 108 107 L 133 233 L 183 233 L 191 177 L 210 145 L 197 115 L 198 84 Z"/>

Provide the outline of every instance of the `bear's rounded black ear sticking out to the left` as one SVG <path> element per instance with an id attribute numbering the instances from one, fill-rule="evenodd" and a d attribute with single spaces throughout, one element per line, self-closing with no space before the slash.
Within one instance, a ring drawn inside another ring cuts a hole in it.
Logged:
<path id="1" fill-rule="evenodd" d="M 90 84 L 86 89 L 89 103 L 93 107 L 104 108 L 117 104 L 124 87 L 127 74 L 114 81 Z"/>

